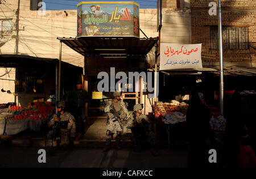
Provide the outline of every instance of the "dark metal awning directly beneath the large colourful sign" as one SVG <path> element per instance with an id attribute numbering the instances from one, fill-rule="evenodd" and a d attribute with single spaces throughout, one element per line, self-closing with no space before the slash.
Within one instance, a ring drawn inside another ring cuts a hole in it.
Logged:
<path id="1" fill-rule="evenodd" d="M 127 57 L 146 56 L 158 42 L 158 37 L 150 39 L 86 37 L 57 38 L 83 56 Z"/>

